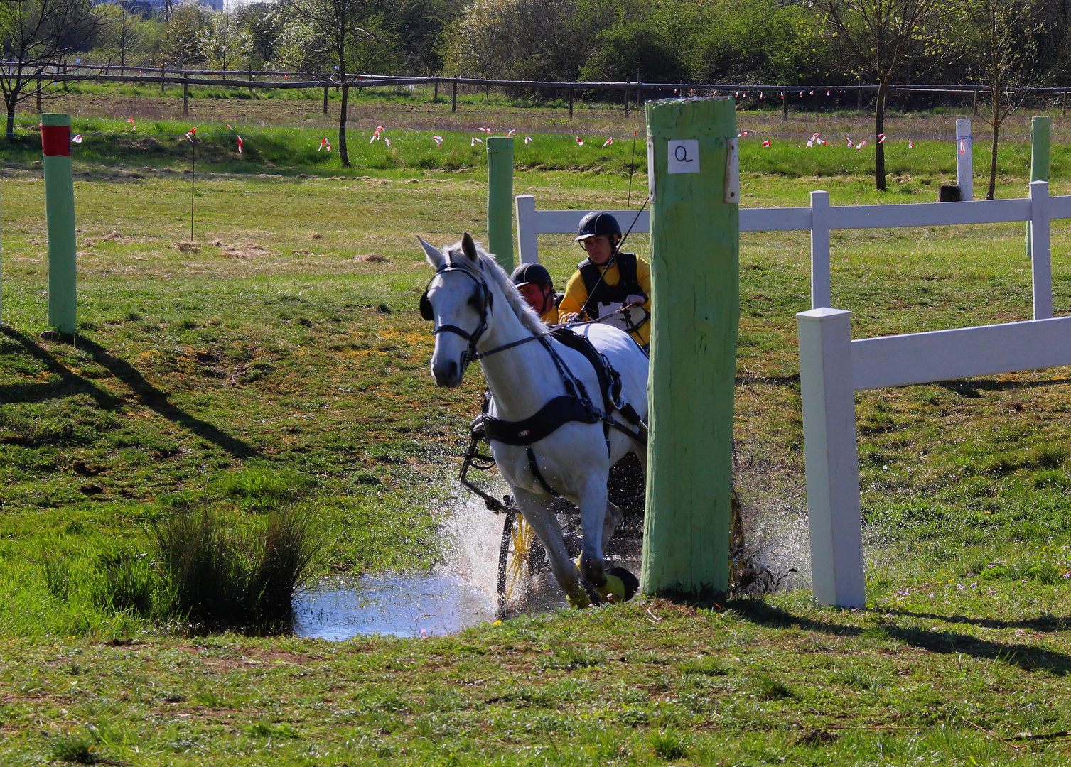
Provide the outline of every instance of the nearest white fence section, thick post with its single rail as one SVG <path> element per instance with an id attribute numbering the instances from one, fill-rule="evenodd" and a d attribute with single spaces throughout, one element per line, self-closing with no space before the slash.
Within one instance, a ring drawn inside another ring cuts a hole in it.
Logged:
<path id="1" fill-rule="evenodd" d="M 855 341 L 849 311 L 818 308 L 796 319 L 814 596 L 861 608 L 855 393 L 1071 365 L 1071 317 Z"/>

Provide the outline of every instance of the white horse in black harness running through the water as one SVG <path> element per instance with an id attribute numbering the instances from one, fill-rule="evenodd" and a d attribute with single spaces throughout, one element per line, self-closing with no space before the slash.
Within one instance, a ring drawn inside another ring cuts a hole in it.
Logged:
<path id="1" fill-rule="evenodd" d="M 545 337 L 549 348 L 537 338 L 544 336 L 547 327 L 509 275 L 468 232 L 446 252 L 420 242 L 436 270 L 421 305 L 425 318 L 435 321 L 432 375 L 437 385 L 458 386 L 474 357 L 491 389 L 489 415 L 496 418 L 530 418 L 550 400 L 569 394 L 570 377 L 583 383 L 590 401 L 604 413 L 616 410 L 603 403 L 599 379 L 586 356 L 550 336 Z M 646 423 L 648 361 L 644 352 L 616 327 L 597 323 L 575 329 L 587 336 L 620 374 L 618 404 L 624 408 L 625 402 L 630 403 Z M 564 372 L 559 364 L 567 369 Z M 527 447 L 491 442 L 495 463 L 512 488 L 525 520 L 546 549 L 558 585 L 574 607 L 586 607 L 600 597 L 610 601 L 624 598 L 621 580 L 606 572 L 603 559 L 603 541 L 614 535 L 621 520 L 621 510 L 606 497 L 606 479 L 609 467 L 630 450 L 637 454 L 640 465 L 647 465 L 644 444 L 623 433 L 638 429 L 620 412 L 605 415 L 623 428 L 570 420 Z M 552 507 L 554 495 L 548 491 L 580 509 L 584 548 L 576 564 L 565 550 Z M 595 593 L 584 587 L 582 576 Z"/>

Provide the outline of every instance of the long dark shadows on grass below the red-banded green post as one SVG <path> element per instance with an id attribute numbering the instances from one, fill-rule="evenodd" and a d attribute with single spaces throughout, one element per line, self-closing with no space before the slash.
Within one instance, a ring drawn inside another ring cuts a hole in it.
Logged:
<path id="1" fill-rule="evenodd" d="M 60 379 L 59 383 L 55 384 L 0 386 L 0 400 L 6 402 L 40 402 L 66 394 L 86 394 L 92 397 L 102 410 L 115 411 L 122 408 L 122 400 L 87 381 L 81 375 L 69 370 L 52 354 L 29 336 L 11 327 L 0 328 L 0 332 L 21 343 L 27 354 L 40 361 L 48 369 L 48 372 L 54 373 Z M 85 336 L 78 336 L 77 344 L 79 349 L 89 352 L 93 357 L 93 362 L 124 383 L 136 395 L 138 402 L 154 411 L 162 418 L 166 418 L 177 426 L 188 429 L 197 436 L 211 442 L 235 458 L 260 457 L 260 451 L 252 445 L 230 436 L 207 420 L 195 418 L 178 405 L 168 401 L 166 394 L 146 381 L 145 377 L 125 359 L 117 357 L 104 347 Z"/>

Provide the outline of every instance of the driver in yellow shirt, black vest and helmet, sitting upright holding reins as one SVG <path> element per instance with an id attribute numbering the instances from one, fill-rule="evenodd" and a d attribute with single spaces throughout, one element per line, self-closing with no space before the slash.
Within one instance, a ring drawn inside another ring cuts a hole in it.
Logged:
<path id="1" fill-rule="evenodd" d="M 558 305 L 561 322 L 598 320 L 629 332 L 647 351 L 651 341 L 651 267 L 635 254 L 617 249 L 621 227 L 609 213 L 580 219 L 576 242 L 588 257 L 576 265 Z"/>

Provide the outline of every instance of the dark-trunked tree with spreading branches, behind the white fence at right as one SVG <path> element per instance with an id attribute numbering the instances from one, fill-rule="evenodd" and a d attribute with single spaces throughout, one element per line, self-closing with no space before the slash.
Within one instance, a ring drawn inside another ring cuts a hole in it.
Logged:
<path id="1" fill-rule="evenodd" d="M 851 52 L 858 74 L 877 83 L 874 177 L 885 191 L 885 108 L 892 78 L 908 63 L 939 59 L 947 0 L 813 0 Z"/>

